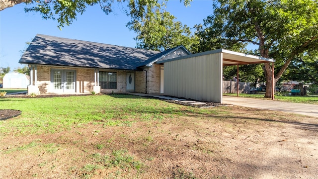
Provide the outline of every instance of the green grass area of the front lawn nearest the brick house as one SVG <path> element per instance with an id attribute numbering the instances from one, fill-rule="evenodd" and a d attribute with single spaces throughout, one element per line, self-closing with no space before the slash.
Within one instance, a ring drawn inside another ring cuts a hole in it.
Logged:
<path id="1" fill-rule="evenodd" d="M 186 115 L 191 107 L 134 95 L 88 95 L 51 98 L 0 98 L 0 109 L 21 110 L 10 122 L 0 121 L 0 133 L 29 135 L 55 133 L 84 124 L 132 126 L 137 121 Z"/>

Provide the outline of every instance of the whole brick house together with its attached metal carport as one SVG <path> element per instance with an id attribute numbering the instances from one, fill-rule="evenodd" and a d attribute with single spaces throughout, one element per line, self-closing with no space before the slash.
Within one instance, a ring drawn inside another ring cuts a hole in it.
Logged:
<path id="1" fill-rule="evenodd" d="M 220 103 L 223 66 L 274 62 L 224 49 L 157 52 L 39 34 L 19 60 L 31 69 L 29 94 L 134 91 Z"/>

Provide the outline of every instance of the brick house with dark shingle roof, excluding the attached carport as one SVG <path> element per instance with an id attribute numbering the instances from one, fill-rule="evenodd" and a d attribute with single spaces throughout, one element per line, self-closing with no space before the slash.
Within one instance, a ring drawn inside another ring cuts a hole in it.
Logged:
<path id="1" fill-rule="evenodd" d="M 159 61 L 189 54 L 183 46 L 157 52 L 37 34 L 19 63 L 31 69 L 29 94 L 162 93 Z"/>

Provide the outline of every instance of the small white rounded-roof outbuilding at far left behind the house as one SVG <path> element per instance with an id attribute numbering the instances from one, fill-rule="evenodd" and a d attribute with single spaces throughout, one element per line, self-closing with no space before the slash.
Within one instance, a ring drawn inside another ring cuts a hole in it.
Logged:
<path id="1" fill-rule="evenodd" d="M 30 84 L 30 77 L 18 72 L 7 73 L 3 77 L 3 88 L 27 88 Z"/>

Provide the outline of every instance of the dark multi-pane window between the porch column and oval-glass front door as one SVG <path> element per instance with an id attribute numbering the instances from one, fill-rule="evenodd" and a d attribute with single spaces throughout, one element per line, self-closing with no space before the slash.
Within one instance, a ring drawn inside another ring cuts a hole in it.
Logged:
<path id="1" fill-rule="evenodd" d="M 117 89 L 117 72 L 99 72 L 101 89 Z"/>

